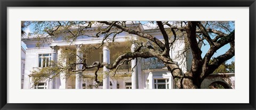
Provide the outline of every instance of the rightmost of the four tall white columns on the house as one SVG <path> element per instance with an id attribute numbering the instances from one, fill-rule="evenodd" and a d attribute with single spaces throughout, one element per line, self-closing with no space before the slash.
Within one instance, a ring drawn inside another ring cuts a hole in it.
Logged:
<path id="1" fill-rule="evenodd" d="M 134 52 L 136 45 L 133 43 L 131 47 L 131 52 Z M 136 66 L 137 60 L 131 61 L 132 69 L 132 89 L 138 89 L 138 66 Z M 138 64 L 137 64 L 138 65 Z M 136 67 L 135 67 L 136 66 Z"/>

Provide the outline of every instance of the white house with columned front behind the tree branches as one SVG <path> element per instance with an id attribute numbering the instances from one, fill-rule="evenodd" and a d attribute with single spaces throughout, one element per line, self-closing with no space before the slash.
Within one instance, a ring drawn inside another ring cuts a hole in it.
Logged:
<path id="1" fill-rule="evenodd" d="M 152 29 L 151 27 L 142 26 L 140 23 L 135 23 L 133 28 L 139 29 L 145 33 L 155 36 L 157 39 L 163 40 L 163 36 L 158 29 Z M 87 33 L 93 34 L 95 30 L 87 30 Z M 61 38 L 61 36 L 60 36 Z M 126 32 L 118 34 L 115 38 L 115 42 L 118 47 L 109 48 L 107 46 L 94 50 L 90 53 L 90 59 L 87 63 L 91 64 L 94 61 L 100 62 L 112 62 L 115 60 L 113 56 L 116 53 L 124 51 L 125 43 L 127 38 L 135 38 L 136 35 L 131 35 Z M 117 71 L 118 77 L 112 77 L 103 75 L 103 83 L 97 85 L 93 78 L 82 78 L 79 74 L 72 77 L 65 78 L 65 73 L 62 73 L 60 77 L 53 80 L 45 80 L 37 85 L 31 82 L 31 71 L 36 68 L 44 68 L 50 66 L 50 61 L 58 61 L 62 54 L 62 49 L 68 48 L 77 51 L 77 55 L 82 54 L 79 50 L 81 45 L 92 45 L 102 41 L 102 38 L 90 38 L 88 36 L 78 38 L 75 42 L 71 43 L 63 41 L 62 39 L 53 39 L 51 44 L 45 44 L 42 48 L 36 48 L 36 42 L 33 38 L 22 39 L 27 45 L 26 49 L 26 67 L 23 88 L 24 89 L 173 89 L 175 88 L 171 72 L 164 67 L 163 63 L 155 61 L 154 63 L 150 59 L 143 59 L 138 61 L 132 60 L 131 64 L 125 63 Z M 138 39 L 137 39 L 138 40 Z M 136 45 L 131 46 L 131 50 Z M 185 48 L 184 39 L 175 41 L 173 47 L 171 47 L 170 57 L 173 61 L 179 63 L 182 71 L 186 72 L 191 68 L 192 55 L 190 51 L 186 52 L 186 59 L 177 57 L 179 51 Z M 77 58 L 78 59 L 78 58 Z M 135 66 L 137 62 L 137 66 Z M 134 67 L 131 71 L 131 68 Z M 81 67 L 77 67 L 81 68 Z M 87 76 L 94 76 L 94 69 L 89 69 L 83 72 Z M 99 71 L 98 73 L 108 72 L 106 68 Z M 82 79 L 82 80 L 81 80 Z"/>

